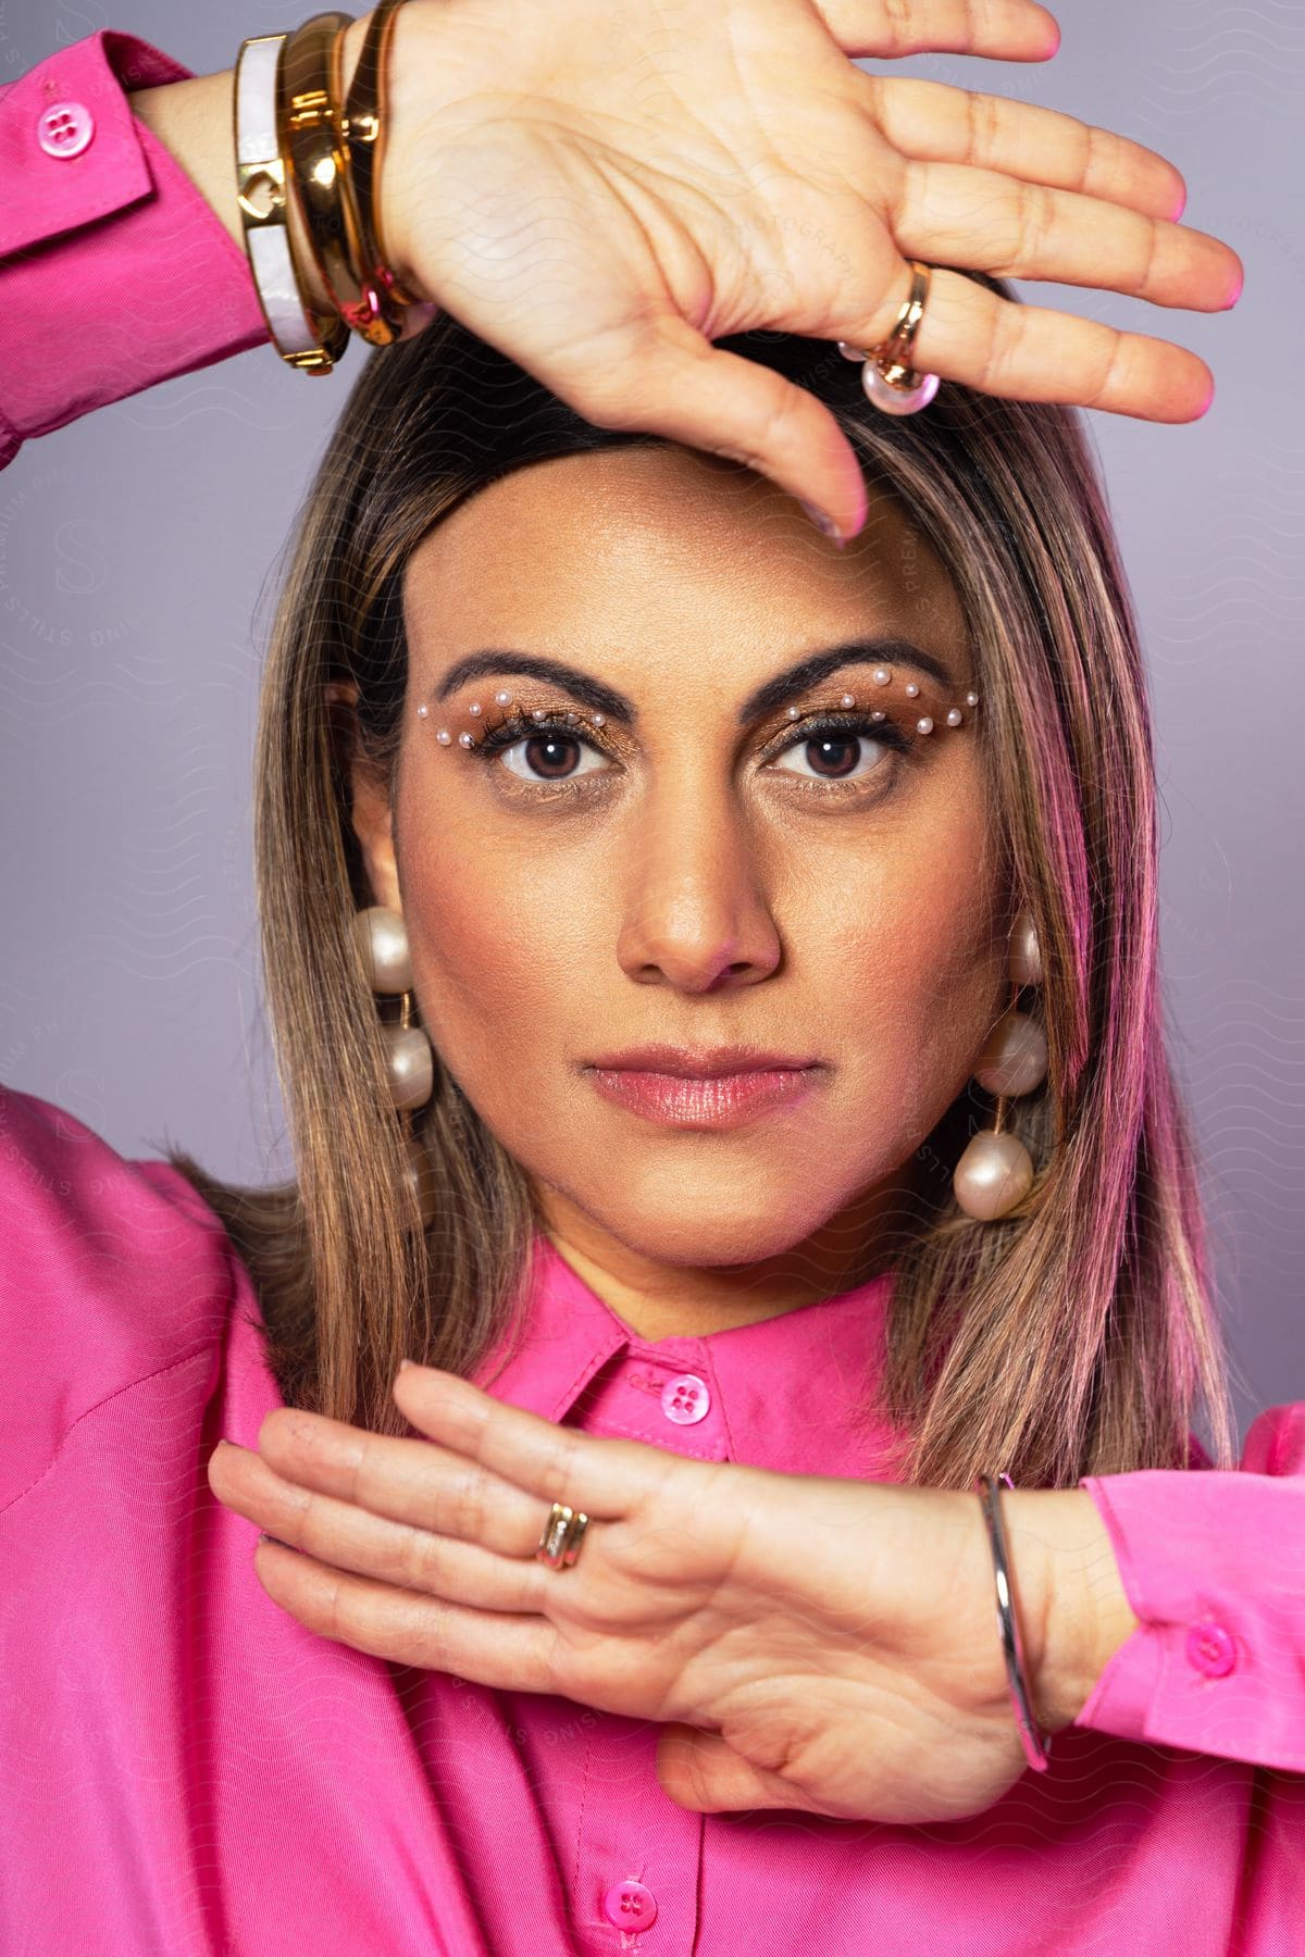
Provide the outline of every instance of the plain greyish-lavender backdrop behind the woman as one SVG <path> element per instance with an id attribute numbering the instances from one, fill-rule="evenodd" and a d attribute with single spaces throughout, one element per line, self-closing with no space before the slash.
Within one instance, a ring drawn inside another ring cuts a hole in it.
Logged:
<path id="1" fill-rule="evenodd" d="M 937 55 L 900 72 L 1158 149 L 1188 178 L 1186 221 L 1246 262 L 1240 305 L 1211 317 L 1023 288 L 1172 327 L 1217 382 L 1190 427 L 1090 423 L 1150 658 L 1166 996 L 1244 1431 L 1260 1407 L 1305 1399 L 1305 12 L 1055 12 L 1051 63 Z M 207 72 L 297 20 L 270 0 L 0 0 L 0 80 L 110 25 Z M 354 362 L 305 380 L 264 346 L 29 442 L 0 478 L 0 1078 L 127 1155 L 166 1135 L 247 1180 L 286 1166 L 250 888 L 258 648 L 276 552 Z"/>

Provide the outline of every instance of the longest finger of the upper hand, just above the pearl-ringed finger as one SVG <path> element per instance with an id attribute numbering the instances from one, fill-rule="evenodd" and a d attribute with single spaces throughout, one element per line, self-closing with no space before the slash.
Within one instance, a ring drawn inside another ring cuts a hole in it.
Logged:
<path id="1" fill-rule="evenodd" d="M 951 162 L 908 162 L 900 184 L 888 229 L 908 258 L 1201 313 L 1227 309 L 1242 288 L 1242 262 L 1221 239 L 1076 190 Z"/>

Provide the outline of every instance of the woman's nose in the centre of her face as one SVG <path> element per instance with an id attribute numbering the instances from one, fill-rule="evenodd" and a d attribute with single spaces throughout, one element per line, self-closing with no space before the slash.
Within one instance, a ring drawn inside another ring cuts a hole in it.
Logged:
<path id="1" fill-rule="evenodd" d="M 632 843 L 616 943 L 626 977 L 710 992 L 775 971 L 783 945 L 767 865 L 726 793 L 665 781 L 640 808 Z"/>

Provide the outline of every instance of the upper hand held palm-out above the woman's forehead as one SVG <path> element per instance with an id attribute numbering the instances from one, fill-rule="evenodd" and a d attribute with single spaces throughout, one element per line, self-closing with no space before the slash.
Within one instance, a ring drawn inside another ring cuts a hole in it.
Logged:
<path id="1" fill-rule="evenodd" d="M 873 346 L 908 258 L 1215 311 L 1242 268 L 1178 225 L 1180 174 L 1072 115 L 853 55 L 1055 53 L 1031 0 L 409 0 L 382 209 L 405 284 L 603 427 L 730 454 L 859 528 L 830 411 L 712 348 L 747 329 Z M 833 346 L 832 346 L 833 352 Z M 1195 354 L 933 274 L 914 364 L 994 395 L 1192 421 Z"/>

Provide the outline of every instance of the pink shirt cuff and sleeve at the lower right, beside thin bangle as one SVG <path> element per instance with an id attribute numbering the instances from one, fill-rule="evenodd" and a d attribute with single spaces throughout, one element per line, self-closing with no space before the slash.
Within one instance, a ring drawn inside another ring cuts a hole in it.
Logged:
<path id="1" fill-rule="evenodd" d="M 1305 1401 L 1235 1470 L 1084 1476 L 1139 1618 L 1074 1726 L 1305 1773 Z"/>

